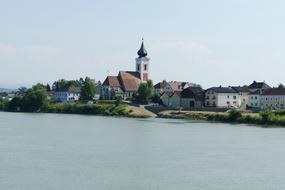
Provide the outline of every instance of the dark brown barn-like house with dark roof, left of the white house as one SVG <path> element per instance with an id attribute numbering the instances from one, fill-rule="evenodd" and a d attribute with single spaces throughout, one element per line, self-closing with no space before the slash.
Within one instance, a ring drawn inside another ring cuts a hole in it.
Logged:
<path id="1" fill-rule="evenodd" d="M 180 105 L 183 109 L 202 108 L 204 91 L 201 87 L 188 87 L 181 92 Z"/>

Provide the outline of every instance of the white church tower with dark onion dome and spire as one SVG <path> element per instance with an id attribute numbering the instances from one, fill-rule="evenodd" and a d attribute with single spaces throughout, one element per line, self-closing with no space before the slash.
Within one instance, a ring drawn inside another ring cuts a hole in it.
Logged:
<path id="1" fill-rule="evenodd" d="M 136 58 L 136 71 L 140 73 L 140 78 L 142 82 L 149 80 L 149 58 L 147 56 L 147 51 L 144 48 L 144 43 L 142 40 L 141 48 L 138 51 L 138 58 Z"/>

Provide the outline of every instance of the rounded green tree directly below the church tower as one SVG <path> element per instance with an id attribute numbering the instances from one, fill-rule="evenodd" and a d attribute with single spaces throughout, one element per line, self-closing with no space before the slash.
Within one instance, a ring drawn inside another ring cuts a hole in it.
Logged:
<path id="1" fill-rule="evenodd" d="M 138 89 L 137 101 L 142 104 L 148 104 L 152 97 L 153 84 L 151 80 L 147 83 L 141 83 Z"/>

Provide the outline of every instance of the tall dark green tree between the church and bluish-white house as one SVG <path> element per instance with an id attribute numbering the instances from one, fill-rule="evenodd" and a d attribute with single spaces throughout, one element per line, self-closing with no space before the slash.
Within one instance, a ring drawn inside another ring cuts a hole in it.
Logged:
<path id="1" fill-rule="evenodd" d="M 93 100 L 96 93 L 96 84 L 94 80 L 86 77 L 83 86 L 81 87 L 80 100 L 90 101 Z"/>

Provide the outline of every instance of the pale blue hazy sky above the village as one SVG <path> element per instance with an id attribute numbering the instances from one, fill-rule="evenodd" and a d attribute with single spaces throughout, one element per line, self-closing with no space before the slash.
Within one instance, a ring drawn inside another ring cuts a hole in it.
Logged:
<path id="1" fill-rule="evenodd" d="M 154 83 L 285 83 L 283 0 L 0 0 L 0 87 L 135 70 Z"/>

